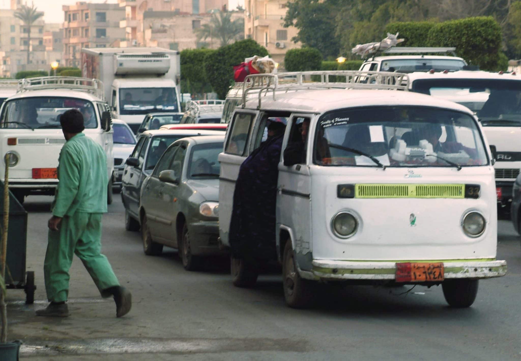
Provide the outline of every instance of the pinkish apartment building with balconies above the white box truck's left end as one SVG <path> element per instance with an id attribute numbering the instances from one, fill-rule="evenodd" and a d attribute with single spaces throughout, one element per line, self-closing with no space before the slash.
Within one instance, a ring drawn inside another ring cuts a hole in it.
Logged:
<path id="1" fill-rule="evenodd" d="M 107 47 L 125 39 L 125 29 L 119 27 L 125 19 L 125 8 L 118 4 L 77 2 L 64 5 L 63 62 L 65 66 L 80 66 L 83 47 Z"/>

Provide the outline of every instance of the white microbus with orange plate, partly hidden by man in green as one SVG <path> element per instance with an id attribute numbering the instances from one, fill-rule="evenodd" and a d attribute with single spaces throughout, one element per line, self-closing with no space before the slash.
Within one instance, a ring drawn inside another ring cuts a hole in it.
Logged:
<path id="1" fill-rule="evenodd" d="M 3 158 L 9 154 L 9 189 L 21 203 L 29 194 L 54 194 L 58 156 L 65 144 L 59 117 L 72 108 L 83 114 L 85 135 L 105 150 L 111 203 L 113 130 L 103 84 L 76 77 L 22 79 L 17 93 L 0 108 L 0 154 Z M 3 166 L 0 177 L 4 177 Z"/>

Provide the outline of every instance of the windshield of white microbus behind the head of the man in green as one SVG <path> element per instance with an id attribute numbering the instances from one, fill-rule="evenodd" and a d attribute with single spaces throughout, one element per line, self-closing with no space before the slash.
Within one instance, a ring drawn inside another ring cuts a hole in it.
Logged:
<path id="1" fill-rule="evenodd" d="M 67 97 L 34 97 L 8 101 L 0 116 L 2 128 L 60 128 L 59 117 L 69 109 L 83 114 L 85 128 L 96 128 L 94 105 L 86 100 Z"/>

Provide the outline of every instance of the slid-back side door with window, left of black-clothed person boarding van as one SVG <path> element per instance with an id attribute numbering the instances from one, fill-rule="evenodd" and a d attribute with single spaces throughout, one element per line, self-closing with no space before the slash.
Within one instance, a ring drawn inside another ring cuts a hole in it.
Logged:
<path id="1" fill-rule="evenodd" d="M 219 154 L 219 235 L 221 242 L 230 245 L 228 232 L 233 208 L 233 192 L 239 168 L 249 155 L 250 140 L 258 118 L 258 111 L 237 110 L 226 131 L 224 152 Z"/>

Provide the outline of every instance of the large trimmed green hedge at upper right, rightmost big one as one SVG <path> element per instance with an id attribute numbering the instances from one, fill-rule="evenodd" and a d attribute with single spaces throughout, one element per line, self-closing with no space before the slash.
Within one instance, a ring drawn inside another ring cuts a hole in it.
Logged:
<path id="1" fill-rule="evenodd" d="M 458 56 L 482 70 L 499 63 L 501 27 L 493 17 L 444 21 L 432 27 L 426 46 L 455 46 Z"/>

